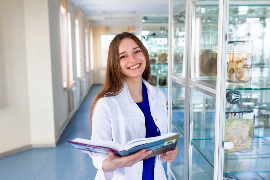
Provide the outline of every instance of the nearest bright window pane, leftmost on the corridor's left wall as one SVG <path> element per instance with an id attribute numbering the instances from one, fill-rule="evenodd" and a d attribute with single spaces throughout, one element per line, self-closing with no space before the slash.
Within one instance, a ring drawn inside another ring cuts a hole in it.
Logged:
<path id="1" fill-rule="evenodd" d="M 63 6 L 60 6 L 60 12 L 61 12 L 61 19 L 60 19 L 60 34 L 61 34 L 61 55 L 62 55 L 62 81 L 63 81 L 63 87 L 66 88 L 67 87 L 67 66 L 66 66 L 66 33 L 67 33 L 67 26 L 66 26 L 66 9 L 63 8 Z"/>

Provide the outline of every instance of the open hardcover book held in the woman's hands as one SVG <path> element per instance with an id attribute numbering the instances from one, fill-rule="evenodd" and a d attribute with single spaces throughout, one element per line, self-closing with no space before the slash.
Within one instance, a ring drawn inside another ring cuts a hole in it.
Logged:
<path id="1" fill-rule="evenodd" d="M 116 155 L 123 157 L 142 149 L 152 150 L 152 153 L 144 158 L 147 159 L 163 152 L 173 150 L 176 147 L 179 136 L 180 133 L 168 133 L 151 138 L 134 139 L 127 142 L 124 147 L 114 141 L 93 141 L 81 138 L 67 141 L 82 152 L 97 156 L 107 156 L 109 151 L 114 151 Z"/>

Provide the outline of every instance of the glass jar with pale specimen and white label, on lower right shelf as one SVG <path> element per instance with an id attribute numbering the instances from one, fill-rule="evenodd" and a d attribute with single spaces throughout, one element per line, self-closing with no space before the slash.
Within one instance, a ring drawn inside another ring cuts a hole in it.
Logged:
<path id="1" fill-rule="evenodd" d="M 254 135 L 254 113 L 249 108 L 226 108 L 225 141 L 234 144 L 224 153 L 251 152 Z"/>

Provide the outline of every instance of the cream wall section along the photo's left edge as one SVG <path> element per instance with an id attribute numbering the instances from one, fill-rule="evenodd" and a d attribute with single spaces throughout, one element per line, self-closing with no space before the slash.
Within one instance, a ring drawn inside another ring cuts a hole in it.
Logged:
<path id="1" fill-rule="evenodd" d="M 0 1 L 0 153 L 30 144 L 23 0 Z"/>

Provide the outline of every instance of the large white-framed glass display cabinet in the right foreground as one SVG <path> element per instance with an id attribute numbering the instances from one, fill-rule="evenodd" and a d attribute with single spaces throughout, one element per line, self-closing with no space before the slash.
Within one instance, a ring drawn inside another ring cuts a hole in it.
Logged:
<path id="1" fill-rule="evenodd" d="M 169 179 L 270 180 L 270 0 L 169 1 Z"/>

